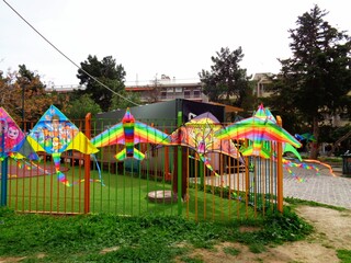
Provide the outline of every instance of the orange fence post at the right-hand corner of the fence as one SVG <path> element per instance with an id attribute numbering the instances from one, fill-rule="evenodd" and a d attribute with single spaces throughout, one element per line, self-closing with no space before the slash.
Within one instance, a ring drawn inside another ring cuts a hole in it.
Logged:
<path id="1" fill-rule="evenodd" d="M 276 116 L 276 123 L 280 127 L 283 126 L 281 116 Z M 283 213 L 283 149 L 282 142 L 278 142 L 276 150 L 276 198 L 278 198 L 278 210 Z"/>

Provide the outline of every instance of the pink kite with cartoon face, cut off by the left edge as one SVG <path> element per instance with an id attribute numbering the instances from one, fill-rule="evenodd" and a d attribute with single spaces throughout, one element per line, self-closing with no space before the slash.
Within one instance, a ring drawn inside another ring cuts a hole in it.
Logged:
<path id="1" fill-rule="evenodd" d="M 27 158 L 37 160 L 38 156 L 26 140 L 25 134 L 9 115 L 0 107 L 0 159 L 11 157 L 15 160 Z"/>

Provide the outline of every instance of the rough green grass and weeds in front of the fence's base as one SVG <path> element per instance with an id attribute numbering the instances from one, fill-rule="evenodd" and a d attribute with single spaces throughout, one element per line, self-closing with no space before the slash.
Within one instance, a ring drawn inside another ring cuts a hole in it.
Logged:
<path id="1" fill-rule="evenodd" d="M 15 214 L 1 207 L 0 221 L 0 256 L 27 256 L 25 262 L 41 262 L 36 259 L 39 253 L 45 254 L 44 262 L 170 262 L 176 256 L 201 262 L 186 256 L 192 248 L 213 249 L 218 242 L 239 241 L 261 252 L 271 242 L 298 240 L 310 231 L 291 211 L 269 215 L 264 221 L 219 224 L 174 216 L 55 217 Z M 244 224 L 260 228 L 240 232 Z"/>

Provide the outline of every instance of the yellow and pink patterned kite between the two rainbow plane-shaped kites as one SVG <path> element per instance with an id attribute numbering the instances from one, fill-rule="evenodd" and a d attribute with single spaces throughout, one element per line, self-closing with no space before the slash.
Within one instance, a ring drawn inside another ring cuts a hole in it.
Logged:
<path id="1" fill-rule="evenodd" d="M 206 168 L 218 175 L 211 165 L 208 153 L 220 152 L 227 156 L 244 160 L 231 140 L 219 140 L 214 135 L 223 128 L 219 121 L 210 112 L 203 113 L 170 135 L 170 145 L 181 145 L 193 149 L 199 155 L 199 159 Z"/>

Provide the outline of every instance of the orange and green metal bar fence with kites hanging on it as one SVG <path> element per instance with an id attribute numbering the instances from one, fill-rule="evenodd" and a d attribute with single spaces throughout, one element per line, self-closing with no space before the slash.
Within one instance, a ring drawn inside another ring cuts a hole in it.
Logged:
<path id="1" fill-rule="evenodd" d="M 155 126 L 151 119 L 143 122 Z M 116 121 L 91 119 L 88 114 L 75 123 L 91 138 Z M 157 128 L 168 134 L 181 125 L 168 119 Z M 270 144 L 278 149 L 270 159 L 228 157 L 211 149 L 204 159 L 191 148 L 152 144 L 134 146 L 145 153 L 143 160 L 115 159 L 123 145 L 102 147 L 91 156 L 70 150 L 61 155 L 64 180 L 45 152 L 36 162 L 4 158 L 0 202 L 23 213 L 156 214 L 194 220 L 261 217 L 269 209 L 283 209 L 282 146 Z"/>

